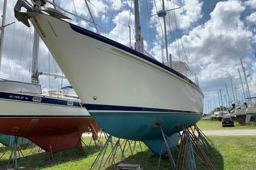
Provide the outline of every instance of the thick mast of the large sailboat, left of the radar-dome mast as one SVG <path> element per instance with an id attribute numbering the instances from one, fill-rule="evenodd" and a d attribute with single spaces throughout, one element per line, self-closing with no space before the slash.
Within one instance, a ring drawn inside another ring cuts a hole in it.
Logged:
<path id="1" fill-rule="evenodd" d="M 134 19 L 135 19 L 135 50 L 143 53 L 143 38 L 141 37 L 140 11 L 138 0 L 134 0 Z"/>

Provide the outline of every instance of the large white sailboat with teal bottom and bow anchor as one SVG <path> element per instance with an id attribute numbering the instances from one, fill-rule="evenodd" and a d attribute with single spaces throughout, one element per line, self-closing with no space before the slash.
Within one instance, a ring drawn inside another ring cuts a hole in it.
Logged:
<path id="1" fill-rule="evenodd" d="M 158 125 L 177 143 L 182 126 L 200 120 L 204 95 L 198 85 L 170 65 L 143 54 L 138 1 L 134 1 L 135 49 L 68 23 L 62 20 L 67 17 L 52 8 L 44 9 L 44 13 L 40 5 L 45 2 L 35 1 L 37 5 L 30 7 L 17 1 L 15 16 L 26 26 L 31 20 L 104 131 L 118 138 L 143 141 L 153 153 L 160 154 L 162 134 Z M 22 7 L 26 13 L 20 11 Z"/>

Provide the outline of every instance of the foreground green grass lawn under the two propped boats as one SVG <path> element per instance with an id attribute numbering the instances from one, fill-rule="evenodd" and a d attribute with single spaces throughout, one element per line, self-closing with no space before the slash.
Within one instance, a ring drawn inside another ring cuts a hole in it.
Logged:
<path id="1" fill-rule="evenodd" d="M 213 142 L 215 149 L 212 150 L 210 159 L 216 169 L 256 169 L 256 137 L 209 137 Z M 85 139 L 89 143 L 89 138 Z M 5 147 L 0 149 L 0 157 L 4 153 Z M 32 149 L 32 151 L 31 151 Z M 23 149 L 22 152 L 26 156 L 26 162 L 29 163 L 31 169 L 89 169 L 98 154 L 95 146 L 90 146 L 90 150 L 84 147 L 85 153 L 76 153 L 76 149 L 70 149 L 54 154 L 55 162 L 50 160 L 50 154 L 38 153 L 38 147 L 30 147 Z M 110 149 L 107 150 L 107 153 Z M 173 156 L 177 156 L 177 151 L 172 150 Z M 10 152 L 0 159 L 0 169 L 6 169 Z M 126 163 L 138 163 L 143 169 L 157 169 L 158 157 L 154 156 L 144 144 L 142 144 L 142 152 L 140 147 L 135 148 L 134 155 L 129 150 L 125 151 Z M 121 163 L 121 154 L 116 156 L 116 163 Z M 26 166 L 24 159 L 18 159 L 19 166 Z M 202 163 L 197 160 L 198 169 L 206 169 Z M 113 169 L 110 164 L 104 166 L 103 169 Z M 160 169 L 170 169 L 167 156 L 161 162 Z"/>

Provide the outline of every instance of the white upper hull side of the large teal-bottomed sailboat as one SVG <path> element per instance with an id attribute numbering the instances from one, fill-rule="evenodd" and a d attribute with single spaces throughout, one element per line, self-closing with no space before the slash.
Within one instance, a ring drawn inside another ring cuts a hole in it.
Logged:
<path id="1" fill-rule="evenodd" d="M 202 112 L 201 91 L 173 73 L 82 35 L 65 21 L 44 14 L 35 19 L 38 24 L 33 18 L 32 23 L 83 103 Z"/>

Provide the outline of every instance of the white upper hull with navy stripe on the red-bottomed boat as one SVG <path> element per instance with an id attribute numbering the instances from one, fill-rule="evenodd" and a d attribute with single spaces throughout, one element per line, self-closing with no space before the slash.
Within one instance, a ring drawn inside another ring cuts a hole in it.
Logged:
<path id="1" fill-rule="evenodd" d="M 7 94 L 7 98 L 2 98 L 1 95 L 5 93 Z M 28 99 L 26 100 L 26 97 Z M 31 101 L 31 97 L 40 97 L 45 98 L 46 100 L 55 99 L 52 97 L 45 97 L 44 95 L 36 95 L 36 94 L 28 94 L 22 92 L 6 92 L 0 91 L 0 116 L 1 118 L 15 118 L 18 116 L 19 118 L 26 118 L 26 117 L 90 117 L 88 110 L 82 107 L 75 107 L 75 106 L 67 106 L 67 101 L 74 100 L 62 100 L 59 98 L 58 103 L 52 102 L 35 102 Z M 16 99 L 15 99 L 16 98 Z M 22 98 L 22 99 L 21 99 Z M 63 101 L 63 104 L 61 105 Z"/>

